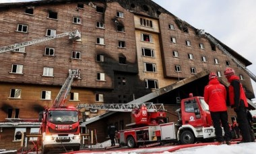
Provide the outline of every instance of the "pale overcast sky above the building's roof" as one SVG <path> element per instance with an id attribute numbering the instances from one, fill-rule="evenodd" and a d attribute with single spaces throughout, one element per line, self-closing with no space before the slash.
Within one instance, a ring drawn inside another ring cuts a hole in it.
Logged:
<path id="1" fill-rule="evenodd" d="M 24 0 L 0 0 L 0 3 Z M 31 0 L 27 0 L 31 1 Z M 197 29 L 204 29 L 247 58 L 256 74 L 255 0 L 153 0 Z M 251 80 L 256 96 L 256 83 Z"/>

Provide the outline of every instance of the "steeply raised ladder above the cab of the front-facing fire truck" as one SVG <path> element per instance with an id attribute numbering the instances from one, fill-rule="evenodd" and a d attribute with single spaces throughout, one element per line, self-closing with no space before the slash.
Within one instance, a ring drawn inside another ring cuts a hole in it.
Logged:
<path id="1" fill-rule="evenodd" d="M 71 90 L 71 84 L 73 82 L 74 78 L 79 78 L 80 72 L 79 70 L 69 70 L 69 76 L 67 77 L 65 83 L 61 87 L 61 90 L 59 90 L 59 94 L 55 98 L 55 101 L 53 102 L 53 107 L 59 107 L 64 106 L 65 100 L 67 99 L 67 95 L 69 94 Z"/>

